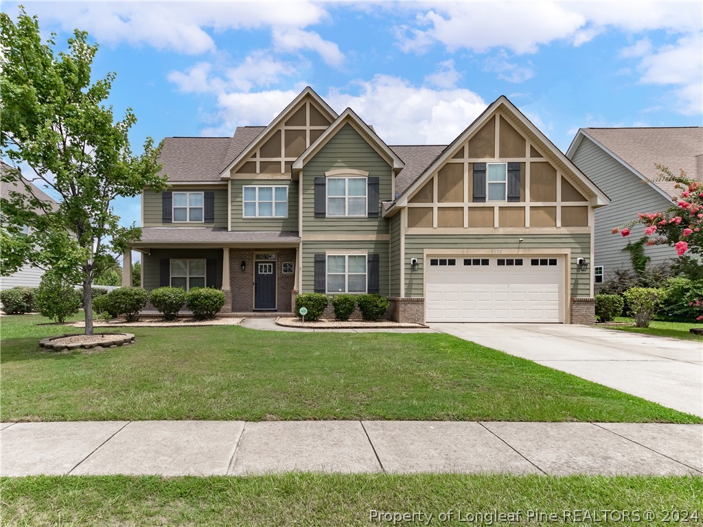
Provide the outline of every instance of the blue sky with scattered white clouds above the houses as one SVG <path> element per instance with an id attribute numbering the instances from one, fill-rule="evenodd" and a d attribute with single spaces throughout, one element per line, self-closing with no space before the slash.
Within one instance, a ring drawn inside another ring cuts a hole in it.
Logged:
<path id="1" fill-rule="evenodd" d="M 268 124 L 307 85 L 390 145 L 446 144 L 501 95 L 562 150 L 582 126 L 702 124 L 700 1 L 24 5 L 59 44 L 101 44 L 134 150 Z M 115 211 L 138 222 L 139 200 Z"/>

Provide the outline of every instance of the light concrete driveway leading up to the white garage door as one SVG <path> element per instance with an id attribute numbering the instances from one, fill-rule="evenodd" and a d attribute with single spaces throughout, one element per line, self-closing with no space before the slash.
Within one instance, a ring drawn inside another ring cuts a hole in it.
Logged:
<path id="1" fill-rule="evenodd" d="M 703 345 L 699 342 L 580 325 L 429 326 L 703 417 Z"/>

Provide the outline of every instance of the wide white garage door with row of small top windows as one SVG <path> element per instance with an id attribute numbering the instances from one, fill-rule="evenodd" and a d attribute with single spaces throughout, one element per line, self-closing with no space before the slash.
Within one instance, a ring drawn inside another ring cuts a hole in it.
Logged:
<path id="1" fill-rule="evenodd" d="M 427 322 L 562 322 L 562 256 L 429 256 Z"/>

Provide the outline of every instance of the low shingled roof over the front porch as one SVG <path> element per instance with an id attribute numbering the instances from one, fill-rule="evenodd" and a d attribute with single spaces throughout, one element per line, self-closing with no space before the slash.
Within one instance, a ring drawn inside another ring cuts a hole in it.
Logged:
<path id="1" fill-rule="evenodd" d="M 156 245 L 297 245 L 297 232 L 276 230 L 227 230 L 212 227 L 143 227 L 141 240 L 134 247 Z"/>

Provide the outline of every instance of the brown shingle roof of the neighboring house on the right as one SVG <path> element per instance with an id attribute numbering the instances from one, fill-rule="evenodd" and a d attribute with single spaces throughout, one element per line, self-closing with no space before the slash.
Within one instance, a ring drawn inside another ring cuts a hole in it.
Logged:
<path id="1" fill-rule="evenodd" d="M 703 152 L 703 128 L 584 128 L 591 136 L 638 171 L 670 196 L 678 195 L 671 181 L 655 181 L 659 171 L 655 164 L 663 164 L 678 175 L 683 169 L 688 177 L 703 181 L 697 167 L 698 155 Z"/>

